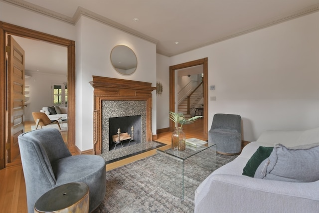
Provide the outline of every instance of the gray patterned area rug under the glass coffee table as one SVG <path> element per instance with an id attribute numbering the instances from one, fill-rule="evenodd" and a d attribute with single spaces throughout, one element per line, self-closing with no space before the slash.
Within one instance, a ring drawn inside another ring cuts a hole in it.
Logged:
<path id="1" fill-rule="evenodd" d="M 106 195 L 95 213 L 193 213 L 199 184 L 237 157 L 216 154 L 214 162 L 212 153 L 202 153 L 184 162 L 184 199 L 178 162 L 156 154 L 106 172 Z"/>

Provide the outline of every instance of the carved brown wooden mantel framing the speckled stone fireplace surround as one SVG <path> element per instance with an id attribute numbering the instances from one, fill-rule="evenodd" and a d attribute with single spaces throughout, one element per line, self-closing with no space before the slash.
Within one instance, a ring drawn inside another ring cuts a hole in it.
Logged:
<path id="1" fill-rule="evenodd" d="M 92 76 L 90 84 L 94 88 L 94 111 L 93 111 L 93 151 L 100 155 L 102 151 L 102 101 L 106 100 L 141 100 L 146 101 L 146 137 L 152 141 L 152 83 Z"/>

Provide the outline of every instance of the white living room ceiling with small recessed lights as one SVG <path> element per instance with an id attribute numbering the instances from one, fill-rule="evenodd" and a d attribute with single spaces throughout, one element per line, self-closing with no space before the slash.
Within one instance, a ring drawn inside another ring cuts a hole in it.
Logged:
<path id="1" fill-rule="evenodd" d="M 79 13 L 96 18 L 156 43 L 157 52 L 166 56 L 319 11 L 319 0 L 2 1 L 62 17 L 61 20 L 72 24 L 76 23 Z"/>

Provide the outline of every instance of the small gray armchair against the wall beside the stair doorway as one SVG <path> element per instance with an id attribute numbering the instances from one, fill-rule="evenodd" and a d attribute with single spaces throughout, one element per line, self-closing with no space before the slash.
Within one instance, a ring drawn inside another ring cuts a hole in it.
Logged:
<path id="1" fill-rule="evenodd" d="M 241 152 L 241 117 L 232 114 L 215 114 L 208 141 L 216 144 L 216 152 L 236 155 Z"/>

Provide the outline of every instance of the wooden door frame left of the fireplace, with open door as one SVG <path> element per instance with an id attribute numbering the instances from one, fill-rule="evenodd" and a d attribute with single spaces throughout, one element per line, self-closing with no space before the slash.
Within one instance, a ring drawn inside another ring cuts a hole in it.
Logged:
<path id="1" fill-rule="evenodd" d="M 6 34 L 65 46 L 68 57 L 68 148 L 75 151 L 75 41 L 0 21 L 0 169 L 5 167 L 6 118 Z"/>

